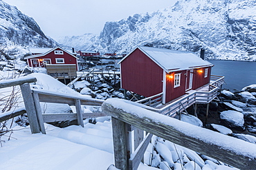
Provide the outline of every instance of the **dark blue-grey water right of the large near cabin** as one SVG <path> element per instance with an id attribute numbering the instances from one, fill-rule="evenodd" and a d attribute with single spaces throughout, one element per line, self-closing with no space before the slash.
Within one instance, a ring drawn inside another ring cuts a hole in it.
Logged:
<path id="1" fill-rule="evenodd" d="M 256 84 L 256 62 L 245 61 L 213 61 L 212 74 L 225 76 L 227 85 L 222 88 L 241 90 L 248 85 Z"/>

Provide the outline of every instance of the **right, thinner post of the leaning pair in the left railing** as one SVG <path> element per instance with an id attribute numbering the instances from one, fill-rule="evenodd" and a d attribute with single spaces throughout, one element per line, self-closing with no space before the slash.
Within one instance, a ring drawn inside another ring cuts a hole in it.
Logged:
<path id="1" fill-rule="evenodd" d="M 39 96 L 37 93 L 33 93 L 34 103 L 35 103 L 35 110 L 37 111 L 37 120 L 39 123 L 39 128 L 42 134 L 46 134 L 46 129 L 44 128 L 44 119 L 42 115 L 42 109 L 39 102 Z"/>

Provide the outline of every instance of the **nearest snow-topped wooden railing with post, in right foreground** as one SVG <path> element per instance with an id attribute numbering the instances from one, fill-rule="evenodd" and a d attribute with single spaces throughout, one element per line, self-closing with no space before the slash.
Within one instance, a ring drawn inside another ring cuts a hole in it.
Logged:
<path id="1" fill-rule="evenodd" d="M 131 153 L 127 135 L 130 125 L 239 169 L 253 170 L 256 167 L 256 145 L 253 143 L 157 114 L 126 100 L 107 99 L 102 104 L 102 111 L 112 116 L 115 165 L 118 169 L 137 169 L 149 142 L 148 135 Z"/>

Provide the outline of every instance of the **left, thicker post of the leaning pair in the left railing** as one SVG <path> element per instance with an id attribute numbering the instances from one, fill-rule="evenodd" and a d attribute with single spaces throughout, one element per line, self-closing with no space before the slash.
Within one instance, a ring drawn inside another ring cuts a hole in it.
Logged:
<path id="1" fill-rule="evenodd" d="M 35 110 L 35 104 L 32 96 L 32 92 L 30 89 L 30 85 L 25 83 L 23 85 L 19 85 L 21 87 L 21 94 L 24 98 L 24 105 L 26 107 L 26 111 L 28 114 L 28 121 L 30 124 L 30 130 L 32 134 L 40 133 L 38 121 L 37 121 L 37 112 Z"/>

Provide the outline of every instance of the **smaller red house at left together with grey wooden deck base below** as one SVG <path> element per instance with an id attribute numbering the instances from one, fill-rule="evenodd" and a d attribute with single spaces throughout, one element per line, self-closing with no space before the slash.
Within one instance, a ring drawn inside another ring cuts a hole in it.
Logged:
<path id="1" fill-rule="evenodd" d="M 74 78 L 76 76 L 77 57 L 71 52 L 62 47 L 40 48 L 32 51 L 35 55 L 24 58 L 29 67 L 46 67 L 48 74 L 56 78 Z"/>

